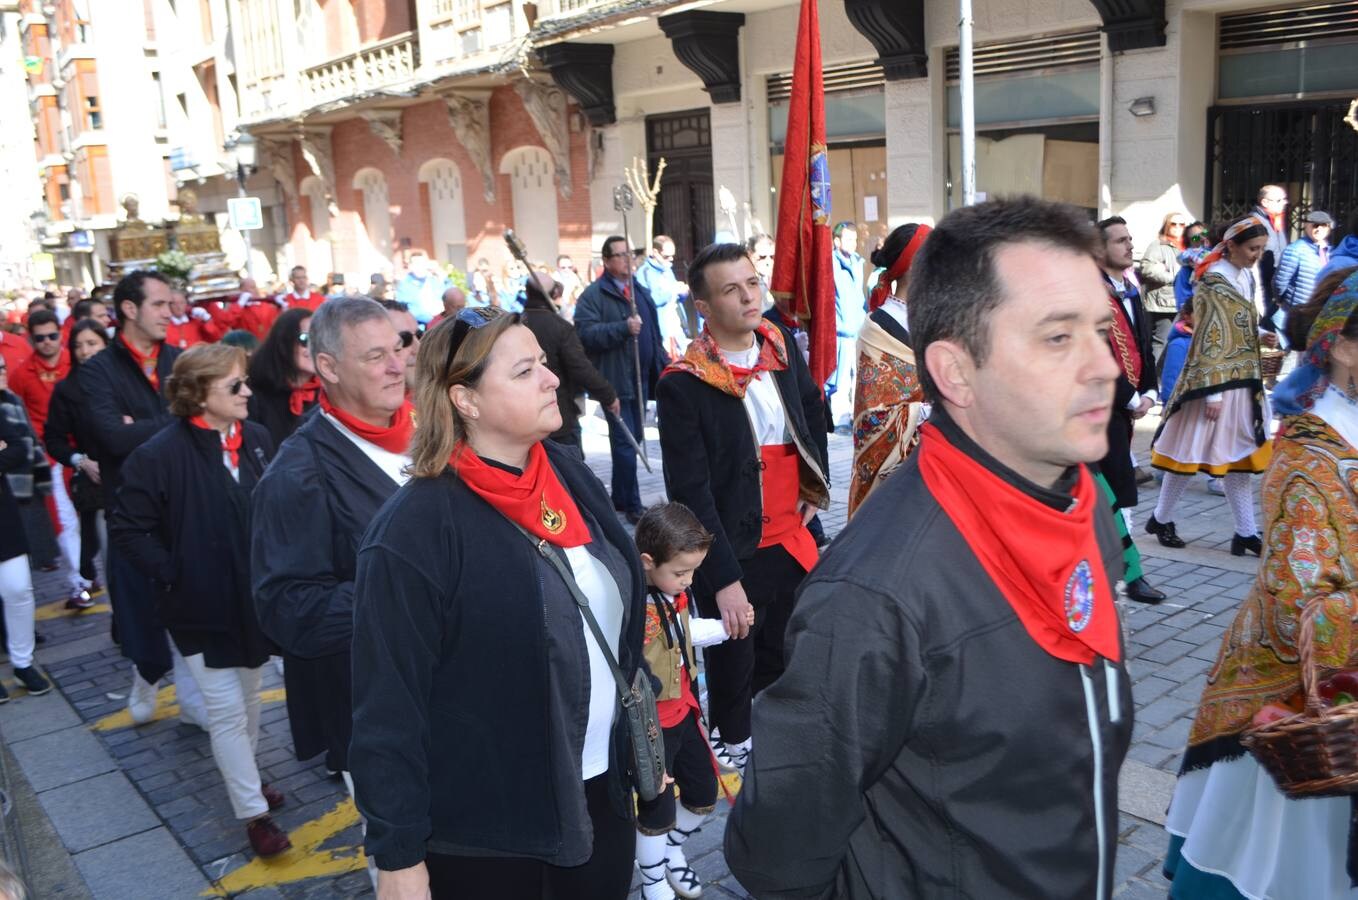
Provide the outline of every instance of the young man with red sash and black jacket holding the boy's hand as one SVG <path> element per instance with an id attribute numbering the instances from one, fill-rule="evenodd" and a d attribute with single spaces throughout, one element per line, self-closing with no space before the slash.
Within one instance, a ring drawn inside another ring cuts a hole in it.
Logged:
<path id="1" fill-rule="evenodd" d="M 792 337 L 760 315 L 743 246 L 699 252 L 689 289 L 706 324 L 660 379 L 660 451 L 669 500 L 714 538 L 693 596 L 737 638 L 705 660 L 714 745 L 739 770 L 751 699 L 782 672 L 793 595 L 818 557 L 807 521 L 830 505 L 824 405 Z"/>

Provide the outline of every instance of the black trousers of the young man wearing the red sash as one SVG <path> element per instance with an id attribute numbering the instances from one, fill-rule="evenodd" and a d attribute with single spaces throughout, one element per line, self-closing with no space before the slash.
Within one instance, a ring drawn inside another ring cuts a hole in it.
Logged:
<path id="1" fill-rule="evenodd" d="M 782 646 L 793 600 L 805 569 L 781 546 L 756 550 L 741 559 L 740 585 L 755 608 L 750 637 L 703 649 L 708 673 L 708 713 L 727 744 L 750 737 L 750 703 L 755 694 L 782 675 Z M 716 597 L 698 597 L 698 611 L 721 618 Z"/>

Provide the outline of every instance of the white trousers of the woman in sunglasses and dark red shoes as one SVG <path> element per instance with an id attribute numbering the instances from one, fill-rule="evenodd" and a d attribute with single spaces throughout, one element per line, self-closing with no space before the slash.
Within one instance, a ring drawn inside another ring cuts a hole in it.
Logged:
<path id="1" fill-rule="evenodd" d="M 263 798 L 254 757 L 259 741 L 259 680 L 263 668 L 209 669 L 201 653 L 183 657 L 183 661 L 202 692 L 212 757 L 227 783 L 231 809 L 242 820 L 268 813 L 269 801 Z"/>

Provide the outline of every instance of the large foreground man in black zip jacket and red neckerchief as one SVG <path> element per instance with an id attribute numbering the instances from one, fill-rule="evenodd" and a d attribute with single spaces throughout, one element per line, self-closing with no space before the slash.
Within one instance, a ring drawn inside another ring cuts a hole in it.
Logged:
<path id="1" fill-rule="evenodd" d="M 1107 900 L 1131 740 L 1096 233 L 1032 198 L 915 258 L 933 417 L 803 585 L 727 861 L 756 897 Z"/>

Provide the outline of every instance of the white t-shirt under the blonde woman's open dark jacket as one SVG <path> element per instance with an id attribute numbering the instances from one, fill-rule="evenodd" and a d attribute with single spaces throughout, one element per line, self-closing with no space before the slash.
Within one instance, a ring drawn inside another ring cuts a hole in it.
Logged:
<path id="1" fill-rule="evenodd" d="M 622 595 L 612 573 L 584 547 L 566 547 L 566 561 L 580 585 L 580 592 L 589 600 L 589 611 L 599 622 L 599 629 L 608 639 L 612 658 L 618 658 L 618 642 L 622 638 Z M 618 709 L 618 686 L 608 668 L 608 658 L 599 648 L 593 631 L 580 614 L 580 627 L 589 650 L 589 724 L 585 726 L 585 747 L 580 755 L 580 770 L 585 781 L 608 771 L 608 736 L 612 733 L 612 717 Z"/>

